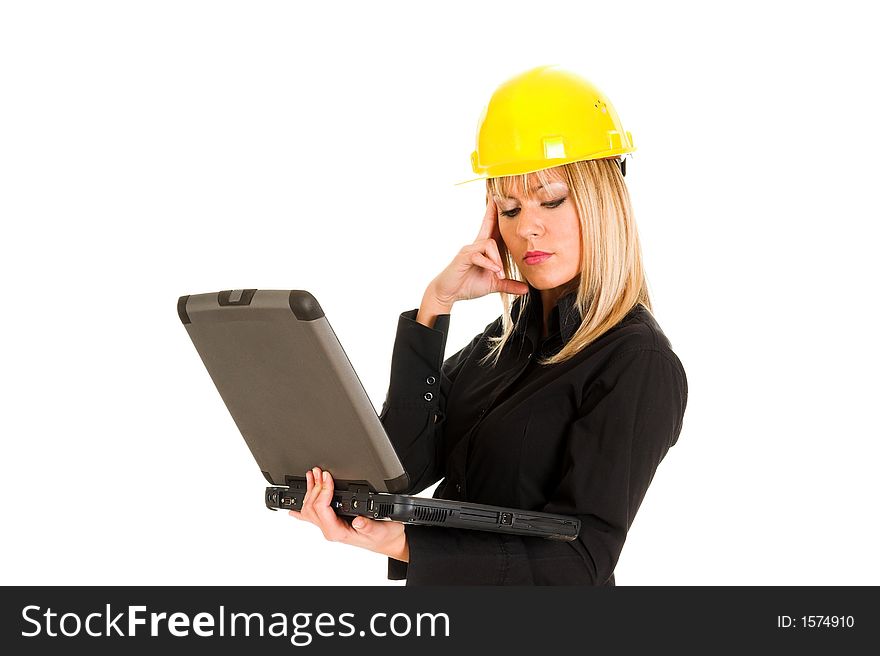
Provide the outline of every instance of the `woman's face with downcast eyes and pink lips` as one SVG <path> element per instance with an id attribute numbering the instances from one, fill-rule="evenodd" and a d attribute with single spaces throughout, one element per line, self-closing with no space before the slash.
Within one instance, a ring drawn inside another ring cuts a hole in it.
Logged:
<path id="1" fill-rule="evenodd" d="M 495 196 L 498 229 L 529 284 L 536 289 L 554 289 L 580 273 L 581 225 L 565 182 L 557 179 L 539 187 L 536 179 L 530 184 L 534 188 L 530 199 L 520 189 L 509 192 L 510 198 Z M 527 260 L 530 251 L 550 256 Z"/>

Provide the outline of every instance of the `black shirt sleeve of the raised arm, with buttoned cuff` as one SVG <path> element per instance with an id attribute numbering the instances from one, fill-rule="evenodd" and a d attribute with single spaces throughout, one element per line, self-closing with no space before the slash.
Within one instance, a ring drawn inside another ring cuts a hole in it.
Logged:
<path id="1" fill-rule="evenodd" d="M 438 315 L 434 327 L 416 321 L 418 308 L 401 312 L 391 354 L 391 379 L 379 419 L 410 475 L 406 494 L 417 494 L 446 471 L 443 420 L 446 399 L 455 377 L 486 330 L 445 361 L 449 314 Z M 388 578 L 406 578 L 406 563 L 388 559 Z"/>

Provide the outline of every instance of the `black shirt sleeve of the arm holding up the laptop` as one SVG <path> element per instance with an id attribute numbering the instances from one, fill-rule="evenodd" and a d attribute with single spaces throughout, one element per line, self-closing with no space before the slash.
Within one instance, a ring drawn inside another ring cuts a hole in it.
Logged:
<path id="1" fill-rule="evenodd" d="M 657 466 L 678 440 L 686 405 L 687 378 L 674 354 L 644 348 L 616 356 L 582 400 L 559 480 L 540 508 L 577 516 L 577 539 L 407 525 L 407 584 L 604 584 Z"/>

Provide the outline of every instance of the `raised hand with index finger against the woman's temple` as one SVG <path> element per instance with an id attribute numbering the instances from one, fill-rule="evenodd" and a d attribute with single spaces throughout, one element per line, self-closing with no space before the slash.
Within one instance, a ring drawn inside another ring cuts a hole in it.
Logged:
<path id="1" fill-rule="evenodd" d="M 493 292 L 527 294 L 524 282 L 504 277 L 504 265 L 498 252 L 501 231 L 495 199 L 486 194 L 486 214 L 474 243 L 464 246 L 452 262 L 431 281 L 434 297 L 444 306 L 456 301 L 479 298 Z"/>

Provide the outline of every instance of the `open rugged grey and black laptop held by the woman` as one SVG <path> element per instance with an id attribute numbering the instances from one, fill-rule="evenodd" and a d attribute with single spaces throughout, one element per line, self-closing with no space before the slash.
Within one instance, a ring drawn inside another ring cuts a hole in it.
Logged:
<path id="1" fill-rule="evenodd" d="M 317 299 L 233 289 L 181 296 L 177 313 L 269 483 L 272 510 L 300 510 L 305 472 L 333 476 L 331 507 L 406 524 L 574 540 L 567 515 L 403 494 L 409 474 Z"/>

